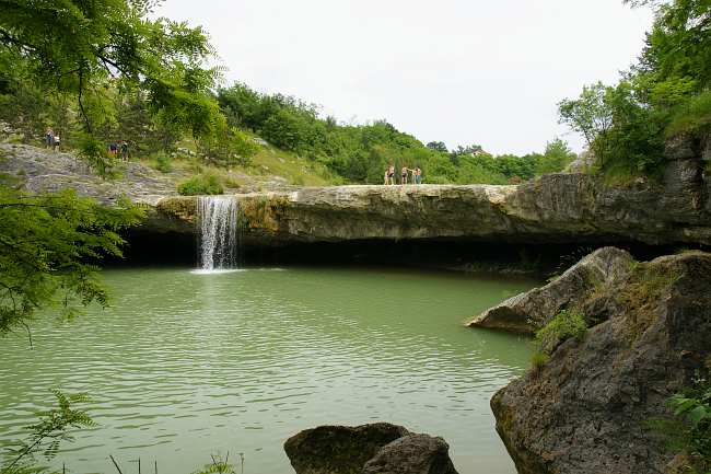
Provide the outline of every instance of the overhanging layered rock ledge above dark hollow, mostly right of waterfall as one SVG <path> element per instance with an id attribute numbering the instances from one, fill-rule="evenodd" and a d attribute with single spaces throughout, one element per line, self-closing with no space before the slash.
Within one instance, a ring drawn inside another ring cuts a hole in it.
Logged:
<path id="1" fill-rule="evenodd" d="M 711 206 L 697 177 L 620 187 L 593 175 L 550 174 L 516 186 L 339 186 L 237 198 L 252 245 L 378 239 L 711 245 Z M 195 198 L 166 198 L 156 208 L 191 231 Z"/>

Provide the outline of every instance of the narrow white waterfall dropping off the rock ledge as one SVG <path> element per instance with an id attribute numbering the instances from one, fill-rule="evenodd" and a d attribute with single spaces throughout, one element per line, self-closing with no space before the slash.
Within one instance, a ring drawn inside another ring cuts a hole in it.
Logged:
<path id="1" fill-rule="evenodd" d="M 200 269 L 232 269 L 238 263 L 240 205 L 234 196 L 198 197 Z"/>

